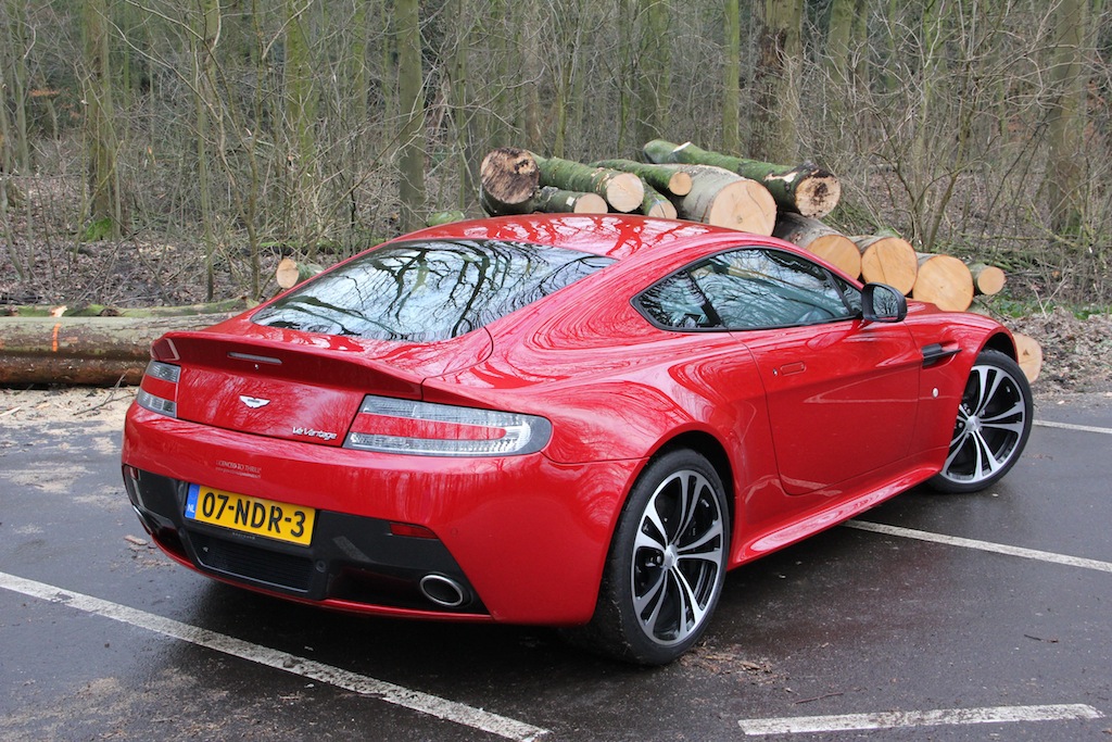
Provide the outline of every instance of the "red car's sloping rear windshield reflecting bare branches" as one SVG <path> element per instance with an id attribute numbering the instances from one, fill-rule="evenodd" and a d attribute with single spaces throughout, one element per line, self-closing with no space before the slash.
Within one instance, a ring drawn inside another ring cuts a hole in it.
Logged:
<path id="1" fill-rule="evenodd" d="M 444 340 L 483 327 L 613 261 L 510 241 L 399 243 L 294 289 L 252 320 L 327 335 Z"/>

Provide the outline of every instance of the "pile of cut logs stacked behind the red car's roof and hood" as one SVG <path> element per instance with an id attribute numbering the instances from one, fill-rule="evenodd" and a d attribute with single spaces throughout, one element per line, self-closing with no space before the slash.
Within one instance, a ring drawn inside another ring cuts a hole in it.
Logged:
<path id="1" fill-rule="evenodd" d="M 492 216 L 555 211 L 639 212 L 773 235 L 866 283 L 887 284 L 947 311 L 964 311 L 977 295 L 1004 287 L 995 266 L 917 253 L 898 235 L 845 235 L 826 225 L 842 194 L 837 178 L 804 162 L 785 167 L 663 139 L 643 148 L 645 161 L 589 165 L 503 147 L 480 169 L 479 204 Z M 1039 375 L 1042 350 L 1017 336 L 1021 366 Z"/>

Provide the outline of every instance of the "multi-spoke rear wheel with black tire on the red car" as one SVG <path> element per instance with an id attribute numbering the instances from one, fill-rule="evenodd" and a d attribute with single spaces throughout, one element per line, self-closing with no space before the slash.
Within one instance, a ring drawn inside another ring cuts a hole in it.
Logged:
<path id="1" fill-rule="evenodd" d="M 676 660 L 706 630 L 728 558 L 729 511 L 717 472 L 692 451 L 665 454 L 634 485 L 595 615 L 569 639 L 642 665 Z"/>

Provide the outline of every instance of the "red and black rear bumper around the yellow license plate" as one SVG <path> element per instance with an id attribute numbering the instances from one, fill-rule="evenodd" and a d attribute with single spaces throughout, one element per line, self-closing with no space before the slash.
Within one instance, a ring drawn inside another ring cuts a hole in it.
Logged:
<path id="1" fill-rule="evenodd" d="M 590 619 L 614 522 L 639 468 L 557 465 L 539 454 L 371 454 L 136 406 L 122 458 L 138 472 L 125 484 L 158 545 L 215 578 L 364 613 L 550 625 Z M 311 544 L 187 521 L 190 483 L 316 508 Z M 390 523 L 437 537 L 394 535 Z"/>

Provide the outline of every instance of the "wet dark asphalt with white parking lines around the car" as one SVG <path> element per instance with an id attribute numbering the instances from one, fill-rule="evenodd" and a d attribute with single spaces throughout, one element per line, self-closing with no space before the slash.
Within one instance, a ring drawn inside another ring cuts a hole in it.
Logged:
<path id="1" fill-rule="evenodd" d="M 120 418 L 0 419 L 0 739 L 1108 740 L 1112 399 L 1039 403 L 993 491 L 737 570 L 663 669 L 555 632 L 326 613 L 155 550 Z"/>

